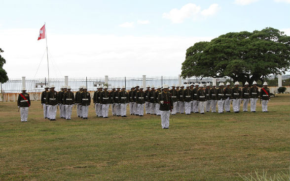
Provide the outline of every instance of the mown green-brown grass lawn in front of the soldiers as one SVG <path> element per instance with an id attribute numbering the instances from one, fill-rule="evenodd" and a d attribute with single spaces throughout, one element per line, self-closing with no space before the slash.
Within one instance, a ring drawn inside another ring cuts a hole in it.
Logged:
<path id="1" fill-rule="evenodd" d="M 258 101 L 259 103 L 259 101 Z M 238 175 L 289 172 L 290 94 L 268 113 L 207 113 L 47 121 L 32 102 L 20 122 L 16 102 L 0 102 L 0 180 L 241 181 Z M 128 108 L 129 109 L 129 108 Z M 249 108 L 250 109 L 250 108 Z M 232 110 L 232 108 L 231 108 Z M 58 110 L 59 117 L 59 110 Z"/>

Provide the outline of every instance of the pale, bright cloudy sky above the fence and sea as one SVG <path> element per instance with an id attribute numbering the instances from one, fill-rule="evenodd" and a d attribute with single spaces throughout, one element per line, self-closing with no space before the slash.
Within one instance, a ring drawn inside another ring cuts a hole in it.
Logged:
<path id="1" fill-rule="evenodd" d="M 52 76 L 73 75 L 76 67 L 60 67 L 78 60 L 101 69 L 80 76 L 177 75 L 186 49 L 197 41 L 265 27 L 290 35 L 290 0 L 5 0 L 0 6 L 0 48 L 10 78 L 45 76 L 45 61 L 36 73 L 45 48 L 45 40 L 36 39 L 44 22 L 55 61 Z M 33 73 L 15 68 L 19 61 L 28 62 Z M 108 69 L 106 62 L 116 68 Z M 120 62 L 168 65 L 125 75 L 118 72 L 125 68 Z"/>

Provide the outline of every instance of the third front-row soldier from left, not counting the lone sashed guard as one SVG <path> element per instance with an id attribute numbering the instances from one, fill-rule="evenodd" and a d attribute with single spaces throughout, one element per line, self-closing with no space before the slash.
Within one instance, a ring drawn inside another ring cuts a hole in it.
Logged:
<path id="1" fill-rule="evenodd" d="M 89 111 L 89 105 L 91 105 L 91 94 L 87 91 L 87 87 L 83 87 L 82 92 L 79 94 L 79 105 L 81 106 L 82 110 L 82 119 L 87 120 L 88 119 L 88 111 Z"/>

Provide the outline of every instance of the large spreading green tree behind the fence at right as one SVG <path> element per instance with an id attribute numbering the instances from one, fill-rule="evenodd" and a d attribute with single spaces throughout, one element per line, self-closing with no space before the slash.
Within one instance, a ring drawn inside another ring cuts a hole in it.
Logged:
<path id="1" fill-rule="evenodd" d="M 229 32 L 186 50 L 181 76 L 225 77 L 252 83 L 290 69 L 290 36 L 273 28 Z"/>

